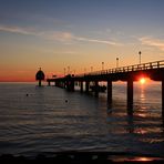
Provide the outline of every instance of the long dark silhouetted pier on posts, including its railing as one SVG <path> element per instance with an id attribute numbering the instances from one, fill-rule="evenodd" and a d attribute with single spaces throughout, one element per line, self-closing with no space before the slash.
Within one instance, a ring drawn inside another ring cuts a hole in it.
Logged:
<path id="1" fill-rule="evenodd" d="M 79 82 L 81 92 L 84 92 L 83 83 L 85 83 L 86 93 L 90 91 L 92 82 L 94 83 L 95 96 L 99 96 L 99 82 L 107 82 L 109 103 L 112 103 L 112 82 L 125 81 L 127 83 L 127 109 L 131 113 L 133 109 L 133 82 L 139 81 L 141 78 L 150 78 L 153 81 L 162 82 L 162 115 L 164 116 L 164 60 L 78 75 L 69 74 L 63 78 L 47 79 L 47 81 L 49 85 L 51 82 L 54 82 L 55 86 L 66 89 L 68 91 L 74 91 L 74 84 Z"/>

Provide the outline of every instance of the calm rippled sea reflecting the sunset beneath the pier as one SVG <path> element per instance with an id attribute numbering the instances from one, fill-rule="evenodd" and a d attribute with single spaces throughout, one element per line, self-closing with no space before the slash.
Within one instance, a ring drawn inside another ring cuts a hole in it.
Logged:
<path id="1" fill-rule="evenodd" d="M 161 83 L 134 83 L 133 115 L 126 83 L 113 83 L 113 103 L 35 83 L 0 83 L 0 154 L 103 151 L 164 156 Z M 28 94 L 28 96 L 27 96 Z"/>

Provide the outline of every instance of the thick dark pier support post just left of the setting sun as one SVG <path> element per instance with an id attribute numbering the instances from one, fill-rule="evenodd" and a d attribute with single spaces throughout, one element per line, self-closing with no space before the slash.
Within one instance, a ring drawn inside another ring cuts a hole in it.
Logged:
<path id="1" fill-rule="evenodd" d="M 133 79 L 127 80 L 127 113 L 133 113 Z"/>

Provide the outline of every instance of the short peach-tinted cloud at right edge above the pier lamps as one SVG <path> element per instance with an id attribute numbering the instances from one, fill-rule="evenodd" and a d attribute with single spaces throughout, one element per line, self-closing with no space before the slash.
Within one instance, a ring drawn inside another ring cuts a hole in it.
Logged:
<path id="1" fill-rule="evenodd" d="M 153 38 L 150 38 L 150 37 L 143 37 L 143 38 L 140 38 L 139 40 L 144 45 L 155 47 L 155 48 L 164 51 L 164 41 L 163 40 L 153 39 Z"/>

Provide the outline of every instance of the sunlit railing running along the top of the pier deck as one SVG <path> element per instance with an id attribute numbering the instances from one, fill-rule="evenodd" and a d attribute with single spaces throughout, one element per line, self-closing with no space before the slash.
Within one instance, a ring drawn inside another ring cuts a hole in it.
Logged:
<path id="1" fill-rule="evenodd" d="M 154 70 L 154 69 L 161 69 L 161 68 L 164 68 L 164 60 L 142 63 L 142 64 L 134 64 L 134 65 L 129 65 L 129 66 L 101 70 L 101 71 L 94 71 L 94 72 L 86 72 L 82 74 L 76 74 L 75 76 L 81 78 L 81 76 L 86 76 L 86 75 L 101 75 L 101 74 L 132 72 L 132 71 L 141 71 L 141 70 Z"/>

